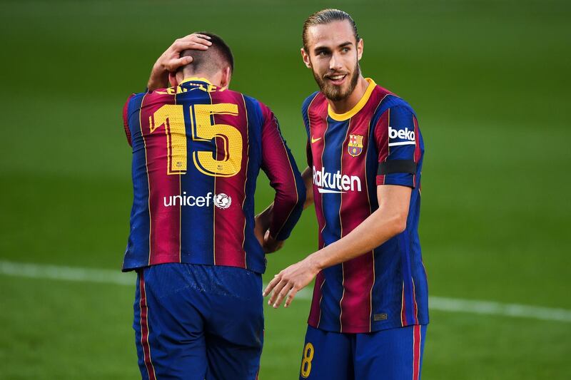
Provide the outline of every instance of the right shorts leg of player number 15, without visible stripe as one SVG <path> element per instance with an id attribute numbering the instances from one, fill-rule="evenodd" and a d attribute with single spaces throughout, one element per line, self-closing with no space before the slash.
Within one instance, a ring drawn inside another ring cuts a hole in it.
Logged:
<path id="1" fill-rule="evenodd" d="M 206 379 L 256 379 L 263 346 L 261 274 L 211 267 L 211 309 L 206 318 Z"/>

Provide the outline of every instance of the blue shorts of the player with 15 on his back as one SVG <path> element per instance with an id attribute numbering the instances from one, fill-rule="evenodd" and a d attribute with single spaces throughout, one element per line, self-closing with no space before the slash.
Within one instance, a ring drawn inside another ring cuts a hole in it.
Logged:
<path id="1" fill-rule="evenodd" d="M 263 345 L 261 274 L 161 264 L 138 270 L 134 304 L 145 380 L 256 379 Z"/>

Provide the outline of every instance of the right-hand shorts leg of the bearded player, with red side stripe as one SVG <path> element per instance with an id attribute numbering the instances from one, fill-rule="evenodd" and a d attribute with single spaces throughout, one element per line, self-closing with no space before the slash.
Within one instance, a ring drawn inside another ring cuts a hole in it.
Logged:
<path id="1" fill-rule="evenodd" d="M 425 337 L 426 325 L 357 334 L 355 378 L 420 379 Z"/>

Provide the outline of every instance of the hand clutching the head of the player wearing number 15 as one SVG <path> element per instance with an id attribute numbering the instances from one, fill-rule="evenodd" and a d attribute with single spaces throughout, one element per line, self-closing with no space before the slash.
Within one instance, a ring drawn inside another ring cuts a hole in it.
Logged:
<path id="1" fill-rule="evenodd" d="M 185 50 L 206 50 L 211 45 L 210 37 L 204 34 L 189 34 L 176 39 L 153 65 L 147 83 L 148 91 L 168 87 L 168 73 L 173 73 L 179 67 L 192 62 L 192 56 L 181 57 L 181 52 Z"/>

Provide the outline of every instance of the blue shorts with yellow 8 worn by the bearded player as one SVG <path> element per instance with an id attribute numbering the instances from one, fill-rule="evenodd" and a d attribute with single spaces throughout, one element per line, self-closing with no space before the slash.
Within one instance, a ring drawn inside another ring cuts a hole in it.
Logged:
<path id="1" fill-rule="evenodd" d="M 363 334 L 308 326 L 300 380 L 420 380 L 426 325 Z"/>

